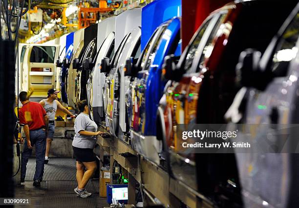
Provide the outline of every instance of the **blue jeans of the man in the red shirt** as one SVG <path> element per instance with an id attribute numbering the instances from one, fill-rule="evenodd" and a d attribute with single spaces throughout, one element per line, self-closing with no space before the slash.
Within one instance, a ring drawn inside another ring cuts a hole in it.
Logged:
<path id="1" fill-rule="evenodd" d="M 44 167 L 44 155 L 46 149 L 46 135 L 43 129 L 29 131 L 31 146 L 35 145 L 36 154 L 36 166 L 33 180 L 43 180 L 43 167 Z M 27 146 L 27 140 L 24 142 L 24 148 L 22 152 L 22 163 L 21 163 L 21 179 L 26 176 L 26 165 L 29 157 L 31 156 L 32 149 Z"/>

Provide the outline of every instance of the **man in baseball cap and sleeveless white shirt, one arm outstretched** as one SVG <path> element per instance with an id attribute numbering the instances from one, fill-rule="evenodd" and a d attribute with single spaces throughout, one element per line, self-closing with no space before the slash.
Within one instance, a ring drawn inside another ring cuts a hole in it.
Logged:
<path id="1" fill-rule="evenodd" d="M 49 128 L 48 128 L 48 135 L 47 135 L 47 146 L 46 146 L 46 153 L 44 157 L 44 163 L 47 164 L 49 162 L 48 156 L 50 152 L 51 142 L 54 137 L 54 130 L 55 130 L 55 114 L 57 108 L 60 109 L 62 112 L 69 116 L 74 116 L 71 112 L 69 112 L 66 108 L 62 106 L 62 104 L 56 99 L 57 91 L 55 89 L 48 90 L 48 97 L 47 99 L 43 99 L 40 101 L 40 104 L 43 106 L 44 110 L 49 117 Z"/>

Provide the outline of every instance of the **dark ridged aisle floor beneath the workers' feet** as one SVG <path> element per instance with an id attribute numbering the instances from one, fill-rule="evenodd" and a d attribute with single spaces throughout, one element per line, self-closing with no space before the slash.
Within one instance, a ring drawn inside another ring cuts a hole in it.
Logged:
<path id="1" fill-rule="evenodd" d="M 28 198 L 30 204 L 17 208 L 102 208 L 107 207 L 106 198 L 99 197 L 99 180 L 88 182 L 86 189 L 93 194 L 88 198 L 78 198 L 74 192 L 77 186 L 74 159 L 50 159 L 45 165 L 41 187 L 33 186 L 35 158 L 29 159 L 25 183 L 16 186 L 16 198 Z"/>

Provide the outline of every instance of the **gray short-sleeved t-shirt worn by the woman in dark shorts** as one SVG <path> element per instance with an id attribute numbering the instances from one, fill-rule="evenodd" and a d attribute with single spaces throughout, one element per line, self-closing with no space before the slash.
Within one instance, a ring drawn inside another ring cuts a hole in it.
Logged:
<path id="1" fill-rule="evenodd" d="M 80 135 L 80 131 L 96 132 L 97 124 L 92 121 L 87 114 L 81 113 L 75 119 L 75 136 L 72 145 L 77 148 L 93 149 L 96 144 L 96 136 Z"/>

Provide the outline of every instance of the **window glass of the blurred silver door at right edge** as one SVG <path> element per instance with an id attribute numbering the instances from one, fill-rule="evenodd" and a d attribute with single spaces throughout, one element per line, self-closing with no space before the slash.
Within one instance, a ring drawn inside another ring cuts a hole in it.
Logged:
<path id="1" fill-rule="evenodd" d="M 298 46 L 296 46 L 298 37 L 299 13 L 285 30 L 278 46 L 276 47 L 271 67 L 275 76 L 285 76 L 287 74 L 290 61 L 293 60 L 298 53 Z"/>

